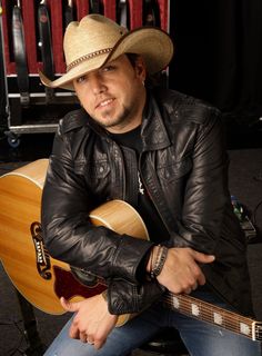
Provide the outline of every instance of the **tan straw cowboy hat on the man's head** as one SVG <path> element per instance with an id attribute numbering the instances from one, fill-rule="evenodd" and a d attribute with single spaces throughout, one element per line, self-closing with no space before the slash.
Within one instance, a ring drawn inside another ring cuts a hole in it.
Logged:
<path id="1" fill-rule="evenodd" d="M 161 29 L 143 27 L 128 31 L 101 14 L 88 14 L 68 26 L 63 50 L 67 72 L 53 81 L 40 72 L 40 79 L 50 88 L 74 90 L 72 80 L 123 53 L 141 55 L 148 72 L 157 73 L 172 59 L 173 43 Z"/>

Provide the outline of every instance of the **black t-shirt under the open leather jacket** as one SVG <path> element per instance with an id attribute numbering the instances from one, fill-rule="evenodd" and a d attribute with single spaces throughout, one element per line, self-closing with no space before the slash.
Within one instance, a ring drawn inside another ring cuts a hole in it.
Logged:
<path id="1" fill-rule="evenodd" d="M 140 136 L 141 127 L 137 127 L 135 129 L 124 132 L 124 134 L 110 134 L 112 139 L 121 147 L 128 147 L 133 149 L 137 155 L 137 160 L 142 151 L 142 140 Z M 169 233 L 161 220 L 152 200 L 150 199 L 147 189 L 144 189 L 142 181 L 139 175 L 139 185 L 138 185 L 138 207 L 137 210 L 142 217 L 150 239 L 154 243 L 160 243 L 164 239 L 168 239 Z M 143 192 L 143 194 L 142 194 Z"/>

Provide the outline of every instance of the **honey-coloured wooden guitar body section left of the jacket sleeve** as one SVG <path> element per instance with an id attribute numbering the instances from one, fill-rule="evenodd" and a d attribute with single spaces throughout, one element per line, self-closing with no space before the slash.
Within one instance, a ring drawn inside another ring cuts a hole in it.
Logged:
<path id="1" fill-rule="evenodd" d="M 44 279 L 37 268 L 31 225 L 40 221 L 40 202 L 48 160 L 39 160 L 0 177 L 0 258 L 21 295 L 50 314 L 64 313 L 54 298 L 53 277 Z M 50 258 L 68 270 L 68 266 Z M 53 270 L 51 268 L 51 275 Z"/>

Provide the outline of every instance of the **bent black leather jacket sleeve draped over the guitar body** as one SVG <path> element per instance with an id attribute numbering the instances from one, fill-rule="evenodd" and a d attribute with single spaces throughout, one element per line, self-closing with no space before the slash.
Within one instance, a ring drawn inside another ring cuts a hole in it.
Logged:
<path id="1" fill-rule="evenodd" d="M 42 192 L 44 244 L 57 259 L 104 278 L 137 283 L 137 269 L 152 243 L 119 235 L 89 220 L 93 195 L 74 170 L 70 132 L 60 126 Z"/>

